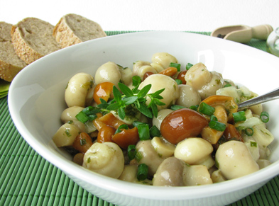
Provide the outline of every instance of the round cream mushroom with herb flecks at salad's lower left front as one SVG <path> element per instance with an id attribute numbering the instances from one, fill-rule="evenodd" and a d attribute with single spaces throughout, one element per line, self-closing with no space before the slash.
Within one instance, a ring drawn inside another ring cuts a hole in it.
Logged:
<path id="1" fill-rule="evenodd" d="M 124 154 L 114 142 L 96 142 L 84 154 L 83 166 L 111 178 L 119 178 L 124 170 Z"/>

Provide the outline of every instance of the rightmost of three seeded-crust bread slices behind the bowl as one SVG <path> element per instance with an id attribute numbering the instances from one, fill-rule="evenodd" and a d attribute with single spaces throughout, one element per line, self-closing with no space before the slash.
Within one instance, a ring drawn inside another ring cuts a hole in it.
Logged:
<path id="1" fill-rule="evenodd" d="M 62 48 L 105 36 L 98 23 L 74 13 L 62 16 L 53 30 L 53 37 Z"/>

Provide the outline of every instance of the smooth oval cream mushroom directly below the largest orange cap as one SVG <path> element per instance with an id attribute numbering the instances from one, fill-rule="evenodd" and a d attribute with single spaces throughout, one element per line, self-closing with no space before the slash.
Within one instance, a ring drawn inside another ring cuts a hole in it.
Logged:
<path id="1" fill-rule="evenodd" d="M 192 137 L 182 140 L 175 148 L 175 157 L 185 161 L 187 164 L 202 164 L 211 156 L 213 151 L 212 144 L 207 140 Z"/>

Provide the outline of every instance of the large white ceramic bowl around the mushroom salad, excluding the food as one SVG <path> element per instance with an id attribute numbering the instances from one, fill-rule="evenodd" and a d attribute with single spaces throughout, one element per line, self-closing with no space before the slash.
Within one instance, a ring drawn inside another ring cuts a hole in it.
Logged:
<path id="1" fill-rule="evenodd" d="M 137 60 L 151 61 L 155 52 L 177 57 L 182 67 L 203 62 L 225 79 L 244 84 L 258 94 L 278 87 L 279 58 L 229 40 L 180 32 L 143 32 L 115 35 L 54 52 L 23 69 L 9 91 L 9 110 L 18 131 L 45 159 L 94 195 L 116 205 L 227 205 L 267 183 L 279 173 L 278 101 L 265 103 L 268 127 L 275 135 L 272 165 L 224 183 L 164 188 L 126 183 L 82 168 L 55 147 L 52 136 L 66 108 L 67 81 L 80 71 L 94 75 L 105 62 L 132 68 Z"/>

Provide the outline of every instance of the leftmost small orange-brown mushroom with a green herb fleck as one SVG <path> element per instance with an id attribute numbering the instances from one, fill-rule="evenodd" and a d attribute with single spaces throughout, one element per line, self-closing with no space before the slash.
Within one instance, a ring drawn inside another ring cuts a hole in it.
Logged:
<path id="1" fill-rule="evenodd" d="M 84 154 L 92 146 L 92 144 L 93 142 L 91 137 L 86 132 L 81 132 L 80 135 L 75 137 L 72 147 Z"/>

